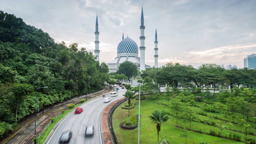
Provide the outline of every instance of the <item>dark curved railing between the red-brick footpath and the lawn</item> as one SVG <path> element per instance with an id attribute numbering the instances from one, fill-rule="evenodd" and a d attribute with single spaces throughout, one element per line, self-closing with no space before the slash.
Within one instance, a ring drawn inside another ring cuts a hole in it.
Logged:
<path id="1" fill-rule="evenodd" d="M 117 141 L 116 134 L 115 134 L 115 132 L 114 132 L 114 128 L 113 128 L 113 124 L 112 124 L 112 116 L 113 116 L 113 114 L 114 114 L 115 109 L 116 109 L 120 104 L 122 104 L 123 102 L 125 102 L 126 100 L 127 100 L 127 98 L 124 99 L 124 100 L 121 100 L 121 101 L 117 102 L 117 103 L 110 109 L 110 111 L 109 111 L 109 113 L 108 113 L 108 127 L 109 127 L 109 129 L 110 129 L 110 134 L 111 134 L 111 136 L 112 136 L 112 140 L 114 141 L 114 144 L 118 144 L 118 141 Z"/>

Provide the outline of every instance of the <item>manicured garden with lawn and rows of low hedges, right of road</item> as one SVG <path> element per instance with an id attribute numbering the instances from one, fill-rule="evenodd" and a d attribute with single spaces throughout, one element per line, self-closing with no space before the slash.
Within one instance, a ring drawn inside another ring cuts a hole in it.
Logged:
<path id="1" fill-rule="evenodd" d="M 186 94 L 183 96 L 188 97 Z M 216 112 L 218 103 L 213 97 L 209 101 L 200 99 L 194 102 L 182 102 L 182 108 L 177 111 L 178 116 L 176 116 L 173 101 L 178 96 L 170 100 L 169 104 L 164 94 L 158 98 L 148 95 L 140 103 L 140 143 L 142 144 L 157 144 L 156 124 L 153 124 L 148 116 L 158 109 L 168 111 L 170 117 L 166 124 L 161 126 L 159 142 L 166 139 L 169 144 L 205 144 L 206 142 L 208 144 L 242 144 L 247 139 L 248 142 L 255 143 L 254 117 L 250 115 L 247 122 L 245 112 L 245 120 L 238 110 L 233 114 L 229 109 L 225 112 L 227 105 L 225 102 L 220 102 L 224 106 L 220 112 Z M 131 102 L 136 102 L 136 106 L 130 109 L 130 118 L 138 114 L 138 100 L 134 99 Z M 118 106 L 113 114 L 114 132 L 119 144 L 135 144 L 138 143 L 138 128 L 133 130 L 120 128 L 120 123 L 128 120 L 128 110 L 122 108 L 124 104 Z M 209 110 L 210 106 L 214 107 L 215 112 Z"/>

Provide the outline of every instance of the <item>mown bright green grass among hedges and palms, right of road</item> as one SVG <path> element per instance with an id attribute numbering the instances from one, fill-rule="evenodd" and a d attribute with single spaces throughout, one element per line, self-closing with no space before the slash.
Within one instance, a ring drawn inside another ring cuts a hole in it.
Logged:
<path id="1" fill-rule="evenodd" d="M 158 105 L 154 103 L 156 99 L 151 98 L 151 96 L 146 96 L 146 100 L 143 100 L 142 103 L 140 103 L 140 143 L 142 144 L 156 144 L 157 143 L 157 131 L 156 126 L 151 123 L 150 118 L 148 118 L 151 113 L 158 109 Z M 138 114 L 138 100 L 132 100 L 132 102 L 136 102 L 136 107 L 134 109 L 130 110 L 130 117 Z M 162 102 L 162 100 L 161 100 Z M 198 102 L 200 103 L 200 102 Z M 164 100 L 164 104 L 167 104 L 167 101 Z M 114 114 L 113 114 L 113 128 L 114 132 L 118 138 L 119 144 L 136 144 L 138 143 L 138 128 L 135 130 L 122 130 L 119 125 L 124 120 L 128 120 L 128 110 L 124 110 L 121 108 L 122 104 L 116 108 Z M 196 114 L 196 116 L 200 119 L 210 119 L 210 115 L 216 115 L 219 117 L 218 113 L 210 113 L 205 111 L 203 108 L 197 108 L 193 107 L 193 110 L 195 111 L 202 111 L 208 114 L 208 116 L 202 116 Z M 160 105 L 159 110 L 170 110 L 168 106 Z M 222 118 L 224 116 L 222 115 Z M 217 120 L 214 118 L 211 118 L 211 120 L 218 121 L 221 124 L 225 124 L 222 120 Z M 229 118 L 230 120 L 230 118 Z M 189 128 L 189 123 L 184 123 L 183 119 L 178 119 L 178 126 Z M 191 128 L 193 130 L 202 130 L 204 132 L 204 128 L 206 127 L 206 132 L 209 132 L 210 129 L 214 130 L 216 133 L 220 132 L 220 129 L 216 126 L 210 126 L 210 125 L 204 125 L 199 122 L 192 122 Z M 237 126 L 234 124 L 234 126 L 229 126 L 229 128 L 240 130 L 240 126 Z M 222 131 L 222 135 L 229 135 L 230 132 L 234 132 L 232 130 L 224 129 Z M 185 137 L 180 136 L 183 133 L 183 131 L 180 128 L 176 127 L 176 118 L 173 116 L 170 116 L 170 119 L 165 125 L 161 126 L 161 131 L 159 134 L 159 141 L 166 139 L 170 144 L 185 144 Z M 235 132 L 236 134 L 243 135 L 242 133 Z M 251 136 L 251 135 L 250 135 Z M 251 136 L 252 138 L 256 138 L 255 136 Z M 243 144 L 243 142 L 237 142 L 235 140 L 229 140 L 225 138 L 219 138 L 216 136 L 210 136 L 207 134 L 200 134 L 197 132 L 190 131 L 189 136 L 187 138 L 188 144 L 198 144 L 200 142 L 208 142 L 209 144 Z"/>

